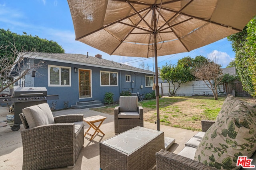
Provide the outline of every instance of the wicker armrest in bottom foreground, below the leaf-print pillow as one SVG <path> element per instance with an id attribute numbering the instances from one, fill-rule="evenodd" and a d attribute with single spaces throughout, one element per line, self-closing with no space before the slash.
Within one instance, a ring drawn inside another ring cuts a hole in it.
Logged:
<path id="1" fill-rule="evenodd" d="M 161 149 L 156 152 L 156 169 L 157 170 L 216 170 L 210 166 L 206 166 L 201 162 L 197 162 L 190 158 L 180 156 L 173 152 Z"/>

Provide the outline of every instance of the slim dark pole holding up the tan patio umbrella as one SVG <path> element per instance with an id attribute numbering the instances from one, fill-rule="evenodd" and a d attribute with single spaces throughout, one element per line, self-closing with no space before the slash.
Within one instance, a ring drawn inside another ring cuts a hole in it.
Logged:
<path id="1" fill-rule="evenodd" d="M 157 65 L 157 42 L 156 42 L 156 6 L 153 7 L 153 21 L 154 21 L 154 52 L 155 52 L 155 67 L 156 67 L 156 126 L 157 130 L 160 131 L 160 113 L 159 113 L 159 86 L 158 86 L 158 65 Z"/>

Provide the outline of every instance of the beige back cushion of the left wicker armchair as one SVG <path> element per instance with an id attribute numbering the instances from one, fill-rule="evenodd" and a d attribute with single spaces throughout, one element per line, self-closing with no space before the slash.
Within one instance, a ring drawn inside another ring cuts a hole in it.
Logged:
<path id="1" fill-rule="evenodd" d="M 52 111 L 47 103 L 38 104 L 22 109 L 29 128 L 54 123 Z"/>

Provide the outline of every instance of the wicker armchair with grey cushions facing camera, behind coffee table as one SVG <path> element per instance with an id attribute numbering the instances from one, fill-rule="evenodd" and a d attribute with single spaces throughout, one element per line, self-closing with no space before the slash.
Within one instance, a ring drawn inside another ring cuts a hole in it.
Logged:
<path id="1" fill-rule="evenodd" d="M 137 96 L 120 96 L 120 106 L 114 109 L 115 133 L 143 127 L 143 108 L 138 106 Z"/>

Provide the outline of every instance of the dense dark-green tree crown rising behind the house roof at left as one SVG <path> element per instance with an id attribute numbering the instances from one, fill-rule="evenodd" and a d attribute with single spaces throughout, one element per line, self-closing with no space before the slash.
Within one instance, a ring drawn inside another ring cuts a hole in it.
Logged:
<path id="1" fill-rule="evenodd" d="M 13 54 L 12 46 L 10 42 L 15 39 L 15 47 L 18 52 L 20 51 L 31 51 L 32 49 L 36 52 L 42 53 L 64 53 L 64 49 L 58 45 L 55 41 L 48 41 L 47 39 L 39 38 L 37 35 L 33 37 L 31 34 L 27 35 L 23 32 L 23 35 L 11 32 L 9 29 L 0 29 L 0 46 L 5 48 L 0 50 L 0 56 L 3 57 L 5 54 Z"/>

